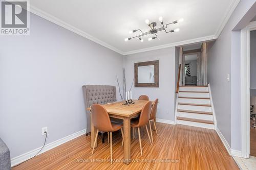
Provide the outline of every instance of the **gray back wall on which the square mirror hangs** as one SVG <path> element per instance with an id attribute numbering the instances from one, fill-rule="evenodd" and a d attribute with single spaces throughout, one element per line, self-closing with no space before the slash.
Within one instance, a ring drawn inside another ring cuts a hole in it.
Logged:
<path id="1" fill-rule="evenodd" d="M 175 108 L 175 47 L 125 56 L 127 87 L 134 78 L 134 63 L 159 60 L 159 88 L 132 87 L 133 98 L 146 94 L 150 100 L 159 99 L 157 118 L 174 120 Z"/>

